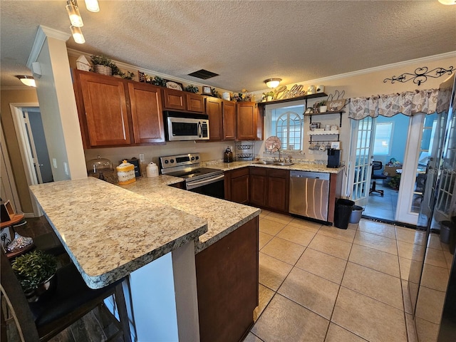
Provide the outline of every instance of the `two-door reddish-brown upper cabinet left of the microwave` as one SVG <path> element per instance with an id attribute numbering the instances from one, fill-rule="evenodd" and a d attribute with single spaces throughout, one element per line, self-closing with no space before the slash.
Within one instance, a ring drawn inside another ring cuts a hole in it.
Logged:
<path id="1" fill-rule="evenodd" d="M 161 89 L 86 71 L 74 71 L 85 148 L 164 144 Z"/>

